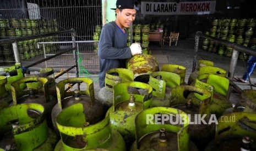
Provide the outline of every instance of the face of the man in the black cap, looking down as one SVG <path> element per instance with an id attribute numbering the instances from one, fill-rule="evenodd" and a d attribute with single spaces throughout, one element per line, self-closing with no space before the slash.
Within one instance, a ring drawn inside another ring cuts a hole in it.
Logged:
<path id="1" fill-rule="evenodd" d="M 121 28 L 128 28 L 135 19 L 136 10 L 135 9 L 123 9 L 120 11 L 116 9 L 117 13 L 117 24 Z"/>

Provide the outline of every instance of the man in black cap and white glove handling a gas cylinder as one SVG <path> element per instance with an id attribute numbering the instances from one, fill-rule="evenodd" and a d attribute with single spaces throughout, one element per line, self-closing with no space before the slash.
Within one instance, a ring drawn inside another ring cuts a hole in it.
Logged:
<path id="1" fill-rule="evenodd" d="M 100 88 L 105 86 L 105 74 L 111 68 L 125 68 L 126 59 L 141 54 L 141 47 L 133 43 L 127 47 L 128 31 L 135 19 L 136 9 L 133 0 L 117 0 L 116 20 L 102 27 L 99 40 L 98 56 L 100 57 Z"/>

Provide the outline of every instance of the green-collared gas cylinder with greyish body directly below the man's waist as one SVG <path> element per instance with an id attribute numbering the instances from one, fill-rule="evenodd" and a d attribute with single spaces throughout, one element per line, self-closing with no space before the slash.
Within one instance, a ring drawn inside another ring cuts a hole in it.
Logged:
<path id="1" fill-rule="evenodd" d="M 133 72 L 125 68 L 113 68 L 106 72 L 105 86 L 99 91 L 99 101 L 106 108 L 113 105 L 113 88 L 118 83 L 133 82 Z"/>

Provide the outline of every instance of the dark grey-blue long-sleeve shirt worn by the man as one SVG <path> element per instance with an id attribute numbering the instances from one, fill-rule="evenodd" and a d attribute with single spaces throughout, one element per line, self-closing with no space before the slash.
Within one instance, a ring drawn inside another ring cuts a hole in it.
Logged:
<path id="1" fill-rule="evenodd" d="M 112 68 L 125 68 L 126 59 L 132 57 L 127 47 L 128 32 L 122 32 L 115 21 L 108 22 L 102 27 L 98 56 L 100 57 L 100 88 L 105 86 L 106 71 Z"/>

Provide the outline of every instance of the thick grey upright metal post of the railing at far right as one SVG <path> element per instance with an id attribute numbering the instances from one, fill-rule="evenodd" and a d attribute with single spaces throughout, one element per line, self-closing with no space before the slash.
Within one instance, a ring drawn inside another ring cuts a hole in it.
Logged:
<path id="1" fill-rule="evenodd" d="M 230 61 L 230 71 L 228 72 L 228 79 L 232 82 L 234 75 L 235 75 L 235 71 L 236 71 L 236 65 L 237 65 L 237 60 L 238 60 L 238 55 L 239 55 L 239 51 L 237 51 L 236 49 L 233 49 L 233 53 L 232 53 L 232 57 L 231 57 L 231 61 Z M 230 93 L 231 93 L 231 88 L 232 86 L 229 86 L 228 89 L 228 93 L 227 93 L 227 98 L 230 98 Z"/>

